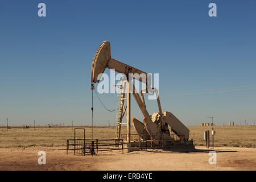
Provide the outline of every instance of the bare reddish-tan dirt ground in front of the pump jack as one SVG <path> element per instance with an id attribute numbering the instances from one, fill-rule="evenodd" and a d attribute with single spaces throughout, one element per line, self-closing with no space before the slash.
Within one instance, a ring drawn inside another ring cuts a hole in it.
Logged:
<path id="1" fill-rule="evenodd" d="M 0 170 L 256 170 L 256 148 L 216 147 L 216 165 L 208 163 L 210 150 L 205 147 L 189 152 L 118 150 L 94 156 L 46 150 L 53 148 L 57 147 L 0 148 Z M 46 151 L 46 165 L 38 164 L 40 150 Z"/>

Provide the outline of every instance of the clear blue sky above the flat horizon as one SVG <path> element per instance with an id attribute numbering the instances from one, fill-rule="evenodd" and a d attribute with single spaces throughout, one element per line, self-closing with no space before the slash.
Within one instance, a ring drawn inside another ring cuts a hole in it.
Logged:
<path id="1" fill-rule="evenodd" d="M 38 3 L 47 16 L 38 16 Z M 208 5 L 217 4 L 217 17 Z M 112 57 L 159 73 L 163 110 L 185 125 L 256 119 L 255 1 L 1 1 L 0 125 L 90 125 L 90 67 Z M 107 71 L 108 73 L 108 71 Z M 207 90 L 207 91 L 205 91 Z M 225 92 L 224 92 L 225 91 Z M 115 108 L 115 94 L 101 94 Z M 146 101 L 150 114 L 156 101 Z M 133 101 L 131 115 L 142 119 Z M 94 97 L 94 123 L 115 123 Z"/>

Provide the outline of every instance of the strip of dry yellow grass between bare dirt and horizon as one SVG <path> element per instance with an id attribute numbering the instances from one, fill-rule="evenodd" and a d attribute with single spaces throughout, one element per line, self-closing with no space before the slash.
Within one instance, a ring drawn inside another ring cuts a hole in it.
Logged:
<path id="1" fill-rule="evenodd" d="M 203 131 L 211 130 L 209 126 L 191 126 L 190 139 L 193 137 L 196 146 L 205 146 Z M 214 126 L 214 146 L 216 147 L 256 147 L 256 126 Z M 94 138 L 114 138 L 115 127 L 95 127 Z M 131 127 L 131 134 L 135 134 Z M 194 135 L 193 135 L 194 134 Z M 73 139 L 74 129 L 71 127 L 52 128 L 11 128 L 0 129 L 0 147 L 31 147 L 31 146 L 65 146 L 67 139 Z M 86 138 L 91 137 L 91 128 L 86 127 Z M 81 130 L 77 137 L 82 137 Z M 122 138 L 126 138 L 126 127 L 122 128 Z M 135 135 L 131 137 L 136 138 Z M 212 138 L 210 138 L 212 141 Z M 212 142 L 210 142 L 210 145 Z"/>

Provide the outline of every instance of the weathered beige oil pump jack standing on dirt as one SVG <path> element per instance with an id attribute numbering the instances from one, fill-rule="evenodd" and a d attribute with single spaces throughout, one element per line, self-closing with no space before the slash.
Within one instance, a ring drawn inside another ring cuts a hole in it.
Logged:
<path id="1" fill-rule="evenodd" d="M 185 125 L 183 125 L 183 123 L 181 123 L 179 119 L 175 117 L 174 114 L 168 111 L 162 111 L 160 99 L 158 96 L 158 90 L 156 88 L 151 88 L 151 75 L 137 68 L 131 67 L 130 65 L 114 60 L 111 57 L 110 43 L 108 41 L 104 41 L 101 44 L 93 58 L 91 68 L 91 81 L 93 88 L 94 83 L 100 81 L 101 73 L 104 73 L 106 68 L 114 69 L 115 72 L 122 73 L 127 78 L 122 82 L 121 86 L 121 101 L 119 106 L 119 117 L 116 133 L 117 139 L 120 138 L 121 125 L 125 124 L 127 126 L 127 147 L 134 146 L 135 141 L 131 141 L 130 123 L 132 121 L 134 129 L 137 131 L 138 135 L 141 137 L 142 140 L 151 139 L 154 140 L 154 143 L 156 145 L 162 146 L 169 146 L 170 144 L 174 145 L 174 135 L 170 134 L 170 130 L 168 129 L 169 125 L 171 127 L 172 133 L 174 133 L 177 137 L 180 138 L 179 142 L 182 141 L 183 145 L 193 145 L 193 142 L 191 140 L 188 140 L 188 128 Z M 144 75 L 146 79 L 143 79 L 143 77 L 140 77 L 138 75 Z M 142 89 L 139 92 L 141 96 L 139 95 L 139 93 L 135 89 L 135 86 L 133 85 L 133 79 L 146 84 L 146 88 Z M 146 109 L 146 104 L 144 101 L 144 94 L 146 93 L 154 93 L 157 98 L 156 100 L 158 103 L 159 111 L 153 113 L 152 115 L 148 114 L 148 111 Z M 142 114 L 144 116 L 143 122 L 135 118 L 131 119 L 131 94 L 133 94 L 135 101 L 139 106 L 139 109 L 142 111 Z M 126 123 L 122 123 L 124 115 L 126 115 Z"/>

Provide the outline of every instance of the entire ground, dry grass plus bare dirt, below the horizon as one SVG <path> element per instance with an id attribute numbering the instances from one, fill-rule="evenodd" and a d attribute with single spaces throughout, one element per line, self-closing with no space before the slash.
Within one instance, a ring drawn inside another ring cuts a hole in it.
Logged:
<path id="1" fill-rule="evenodd" d="M 189 127 L 195 150 L 172 151 L 150 149 L 122 154 L 120 150 L 102 151 L 96 155 L 68 155 L 67 139 L 73 139 L 71 127 L 0 129 L 0 170 L 253 170 L 256 164 L 255 126 L 214 126 L 214 151 L 217 164 L 210 165 L 203 141 L 203 131 L 209 127 Z M 122 128 L 126 137 L 126 127 Z M 132 128 L 132 134 L 135 131 Z M 195 133 L 195 134 L 194 134 Z M 194 134 L 194 135 L 193 135 Z M 114 138 L 115 127 L 95 127 L 94 138 Z M 77 131 L 77 138 L 82 137 Z M 86 127 L 86 138 L 91 128 Z M 132 135 L 131 138 L 134 138 Z M 210 143 L 211 144 L 211 143 Z M 250 148 L 249 148 L 250 147 Z M 38 164 L 38 152 L 46 151 L 46 165 Z M 126 165 L 123 165 L 126 164 Z"/>

